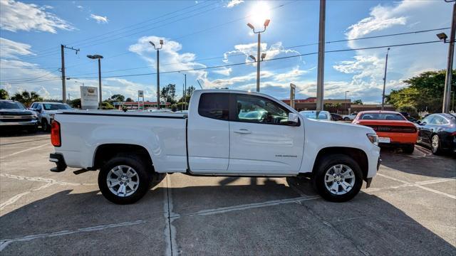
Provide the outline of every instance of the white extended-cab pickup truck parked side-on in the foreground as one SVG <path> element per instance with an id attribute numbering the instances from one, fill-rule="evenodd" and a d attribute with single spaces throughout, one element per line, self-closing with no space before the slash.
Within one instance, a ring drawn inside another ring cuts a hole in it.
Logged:
<path id="1" fill-rule="evenodd" d="M 197 90 L 188 114 L 63 110 L 51 124 L 56 163 L 98 170 L 101 193 L 134 203 L 165 174 L 311 176 L 329 201 L 370 185 L 380 163 L 370 127 L 307 119 L 274 97 Z"/>

